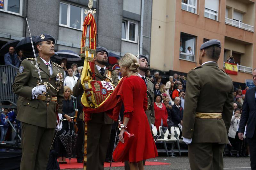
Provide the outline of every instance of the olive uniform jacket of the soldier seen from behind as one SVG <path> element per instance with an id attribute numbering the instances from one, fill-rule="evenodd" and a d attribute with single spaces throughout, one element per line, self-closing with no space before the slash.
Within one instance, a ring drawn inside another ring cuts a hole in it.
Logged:
<path id="1" fill-rule="evenodd" d="M 192 143 L 228 143 L 233 114 L 233 82 L 217 63 L 188 72 L 182 136 Z M 222 113 L 222 118 L 196 118 L 196 113 Z"/>

